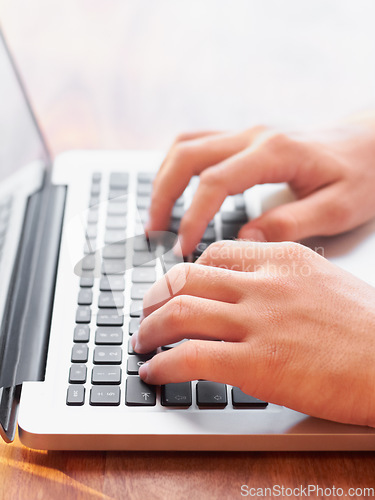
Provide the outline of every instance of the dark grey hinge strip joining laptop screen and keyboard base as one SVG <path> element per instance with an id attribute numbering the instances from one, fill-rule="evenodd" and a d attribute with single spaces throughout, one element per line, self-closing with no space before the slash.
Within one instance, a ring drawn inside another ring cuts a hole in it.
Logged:
<path id="1" fill-rule="evenodd" d="M 0 434 L 14 439 L 21 385 L 44 380 L 66 187 L 30 196 L 0 335 Z"/>

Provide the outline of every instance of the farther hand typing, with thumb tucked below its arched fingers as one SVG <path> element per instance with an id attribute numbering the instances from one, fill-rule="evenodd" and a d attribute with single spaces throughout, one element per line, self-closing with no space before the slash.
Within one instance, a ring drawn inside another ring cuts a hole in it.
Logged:
<path id="1" fill-rule="evenodd" d="M 181 136 L 154 181 L 148 230 L 166 230 L 176 199 L 200 175 L 179 239 L 192 252 L 228 195 L 255 184 L 288 182 L 296 200 L 246 224 L 239 237 L 297 241 L 354 228 L 375 215 L 372 121 L 297 136 L 255 127 L 241 133 Z"/>

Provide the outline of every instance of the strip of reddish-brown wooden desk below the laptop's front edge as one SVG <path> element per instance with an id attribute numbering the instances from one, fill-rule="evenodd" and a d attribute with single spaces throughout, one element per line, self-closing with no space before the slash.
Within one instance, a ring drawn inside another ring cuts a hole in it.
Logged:
<path id="1" fill-rule="evenodd" d="M 374 475 L 373 453 L 38 452 L 0 444 L 0 498 L 12 500 L 234 499 L 242 484 L 345 490 L 374 487 Z"/>

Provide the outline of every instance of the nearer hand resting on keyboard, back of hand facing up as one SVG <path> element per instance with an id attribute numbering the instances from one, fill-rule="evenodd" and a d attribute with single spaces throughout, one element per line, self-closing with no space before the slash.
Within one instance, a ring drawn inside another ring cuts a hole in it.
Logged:
<path id="1" fill-rule="evenodd" d="M 296 243 L 218 242 L 144 298 L 132 342 L 151 384 L 206 379 L 312 416 L 375 426 L 375 290 Z M 215 342 L 221 340 L 224 342 Z"/>

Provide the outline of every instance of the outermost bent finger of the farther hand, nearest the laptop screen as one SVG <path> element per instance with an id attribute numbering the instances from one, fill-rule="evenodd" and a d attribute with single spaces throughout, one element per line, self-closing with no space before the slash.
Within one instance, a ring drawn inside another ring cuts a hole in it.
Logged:
<path id="1" fill-rule="evenodd" d="M 166 230 L 172 207 L 191 177 L 249 144 L 249 133 L 211 134 L 172 147 L 153 183 L 147 230 Z"/>

